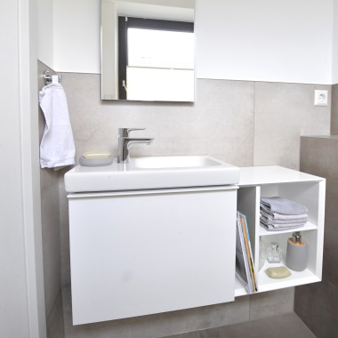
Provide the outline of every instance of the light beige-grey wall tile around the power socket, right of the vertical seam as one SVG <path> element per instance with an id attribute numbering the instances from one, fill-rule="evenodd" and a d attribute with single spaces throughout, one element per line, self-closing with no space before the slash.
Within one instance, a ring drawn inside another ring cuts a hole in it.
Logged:
<path id="1" fill-rule="evenodd" d="M 256 83 L 254 165 L 299 169 L 300 135 L 330 133 L 330 104 L 315 107 L 315 89 L 329 85 Z"/>

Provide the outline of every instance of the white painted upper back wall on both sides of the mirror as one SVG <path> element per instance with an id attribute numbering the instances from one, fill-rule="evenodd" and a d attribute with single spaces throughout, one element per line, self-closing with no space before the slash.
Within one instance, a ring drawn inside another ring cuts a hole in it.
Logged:
<path id="1" fill-rule="evenodd" d="M 331 84 L 333 7 L 334 0 L 196 0 L 197 78 Z M 100 10 L 101 0 L 53 1 L 49 66 L 101 73 Z"/>

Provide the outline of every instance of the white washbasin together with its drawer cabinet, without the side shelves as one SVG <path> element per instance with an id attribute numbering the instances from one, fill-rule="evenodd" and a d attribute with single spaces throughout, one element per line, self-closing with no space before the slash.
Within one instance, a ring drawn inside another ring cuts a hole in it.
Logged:
<path id="1" fill-rule="evenodd" d="M 238 179 L 212 157 L 66 173 L 73 324 L 233 301 Z"/>

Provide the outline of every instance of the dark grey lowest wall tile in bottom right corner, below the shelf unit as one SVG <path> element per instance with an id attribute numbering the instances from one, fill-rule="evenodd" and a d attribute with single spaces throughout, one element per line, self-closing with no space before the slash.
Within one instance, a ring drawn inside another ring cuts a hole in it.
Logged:
<path id="1" fill-rule="evenodd" d="M 318 338 L 337 337 L 338 288 L 325 278 L 320 283 L 296 287 L 294 310 Z"/>

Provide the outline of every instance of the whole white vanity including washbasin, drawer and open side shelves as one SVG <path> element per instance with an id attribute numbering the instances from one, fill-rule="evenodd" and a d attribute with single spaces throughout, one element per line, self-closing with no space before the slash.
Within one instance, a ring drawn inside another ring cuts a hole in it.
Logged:
<path id="1" fill-rule="evenodd" d="M 260 227 L 261 196 L 309 208 L 300 229 L 309 261 L 305 271 L 280 280 L 268 278 L 266 263 L 259 292 L 320 280 L 324 179 L 280 166 L 237 168 L 212 157 L 163 157 L 165 167 L 144 158 L 141 165 L 77 166 L 66 173 L 74 325 L 232 302 L 246 294 L 235 278 L 237 210 L 246 214 L 254 258 L 260 240 L 278 241 L 285 253 L 292 235 Z M 146 189 L 141 184 L 148 175 L 154 180 Z"/>

